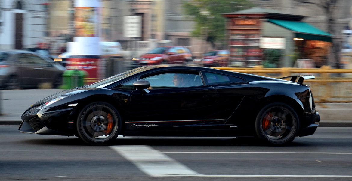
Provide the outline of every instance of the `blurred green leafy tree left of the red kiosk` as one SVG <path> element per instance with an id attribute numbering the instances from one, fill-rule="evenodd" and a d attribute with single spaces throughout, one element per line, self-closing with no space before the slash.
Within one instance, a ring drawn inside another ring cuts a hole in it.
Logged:
<path id="1" fill-rule="evenodd" d="M 201 37 L 215 47 L 224 43 L 226 18 L 221 13 L 231 13 L 254 7 L 249 0 L 183 0 L 184 13 L 195 22 L 193 36 Z"/>

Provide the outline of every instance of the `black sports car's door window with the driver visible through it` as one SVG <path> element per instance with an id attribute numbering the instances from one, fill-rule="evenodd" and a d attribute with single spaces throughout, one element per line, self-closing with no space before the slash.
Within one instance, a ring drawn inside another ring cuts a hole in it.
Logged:
<path id="1" fill-rule="evenodd" d="M 143 80 L 149 81 L 150 89 L 193 87 L 203 85 L 199 74 L 189 73 L 164 73 L 152 75 L 143 78 Z"/>

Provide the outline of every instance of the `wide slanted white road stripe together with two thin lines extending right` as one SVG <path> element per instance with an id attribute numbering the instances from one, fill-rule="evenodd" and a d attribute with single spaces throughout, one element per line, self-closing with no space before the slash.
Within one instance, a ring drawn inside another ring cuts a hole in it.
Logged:
<path id="1" fill-rule="evenodd" d="M 163 153 L 282 153 L 282 154 L 352 154 L 352 153 L 330 153 L 330 152 L 160 152 L 150 146 L 110 146 L 137 168 L 149 176 L 156 177 L 335 177 L 352 178 L 352 175 L 203 175 L 199 174 L 182 163 L 170 158 Z"/>

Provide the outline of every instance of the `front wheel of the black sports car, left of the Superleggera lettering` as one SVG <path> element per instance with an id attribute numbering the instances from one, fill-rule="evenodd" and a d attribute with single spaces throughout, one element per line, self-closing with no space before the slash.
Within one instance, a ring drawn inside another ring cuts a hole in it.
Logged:
<path id="1" fill-rule="evenodd" d="M 106 102 L 93 102 L 77 118 L 78 136 L 92 145 L 106 145 L 115 140 L 122 127 L 116 108 Z M 109 128 L 110 127 L 110 128 Z"/>

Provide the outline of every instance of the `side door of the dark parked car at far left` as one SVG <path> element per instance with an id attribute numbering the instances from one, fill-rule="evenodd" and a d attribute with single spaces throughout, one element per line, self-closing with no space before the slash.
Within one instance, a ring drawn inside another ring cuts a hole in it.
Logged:
<path id="1" fill-rule="evenodd" d="M 36 63 L 36 55 L 23 53 L 17 56 L 20 85 L 37 86 L 42 79 L 43 67 Z"/>

